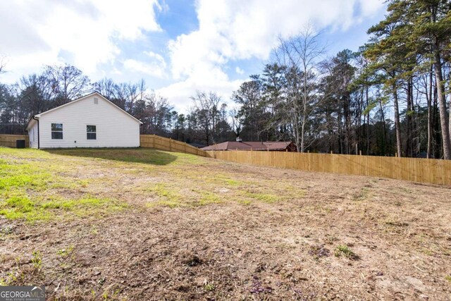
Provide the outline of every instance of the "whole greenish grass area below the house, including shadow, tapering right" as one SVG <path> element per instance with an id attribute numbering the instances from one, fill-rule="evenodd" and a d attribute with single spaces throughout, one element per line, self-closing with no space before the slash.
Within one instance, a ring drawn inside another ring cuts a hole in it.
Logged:
<path id="1" fill-rule="evenodd" d="M 228 199 L 244 205 L 275 203 L 304 195 L 298 186 L 253 180 L 252 173 L 219 166 L 191 154 L 146 148 L 0 148 L 0 214 L 42 221 L 122 210 L 125 203 L 118 199 L 130 197 L 152 199 L 144 207 L 176 208 Z M 227 197 L 214 192 L 218 188 Z M 109 199 L 89 197 L 106 193 Z"/>

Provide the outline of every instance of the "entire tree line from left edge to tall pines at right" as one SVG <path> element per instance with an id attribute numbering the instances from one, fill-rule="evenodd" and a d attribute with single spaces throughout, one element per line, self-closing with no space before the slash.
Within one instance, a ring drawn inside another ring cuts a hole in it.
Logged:
<path id="1" fill-rule="evenodd" d="M 233 92 L 196 91 L 178 113 L 144 80 L 91 82 L 74 66 L 47 66 L 0 84 L 0 133 L 23 133 L 34 113 L 98 91 L 144 122 L 142 133 L 211 145 L 235 140 L 293 141 L 299 152 L 451 159 L 451 4 L 390 0 L 369 41 L 325 57 L 306 27 L 279 38 L 260 74 Z M 1 70 L 1 68 L 0 68 Z"/>

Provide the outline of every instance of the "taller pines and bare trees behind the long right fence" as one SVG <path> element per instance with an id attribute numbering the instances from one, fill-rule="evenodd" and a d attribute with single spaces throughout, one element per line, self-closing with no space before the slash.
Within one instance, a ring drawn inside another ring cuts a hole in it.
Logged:
<path id="1" fill-rule="evenodd" d="M 451 2 L 390 0 L 369 42 L 324 59 L 307 27 L 233 100 L 246 140 L 299 152 L 451 159 Z"/>

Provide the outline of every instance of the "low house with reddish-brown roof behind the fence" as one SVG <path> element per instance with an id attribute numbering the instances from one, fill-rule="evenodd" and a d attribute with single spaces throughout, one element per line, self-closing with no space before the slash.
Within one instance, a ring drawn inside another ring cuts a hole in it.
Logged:
<path id="1" fill-rule="evenodd" d="M 222 142 L 217 145 L 210 145 L 209 147 L 202 147 L 202 150 L 219 151 L 219 150 L 252 150 L 252 151 L 267 151 L 267 152 L 296 152 L 296 146 L 293 142 L 241 142 L 229 141 Z"/>

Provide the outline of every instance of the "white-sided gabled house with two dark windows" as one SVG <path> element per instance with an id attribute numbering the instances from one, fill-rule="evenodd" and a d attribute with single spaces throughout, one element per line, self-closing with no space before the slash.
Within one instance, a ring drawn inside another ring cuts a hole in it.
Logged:
<path id="1" fill-rule="evenodd" d="M 30 118 L 30 147 L 139 147 L 142 122 L 94 92 Z"/>

